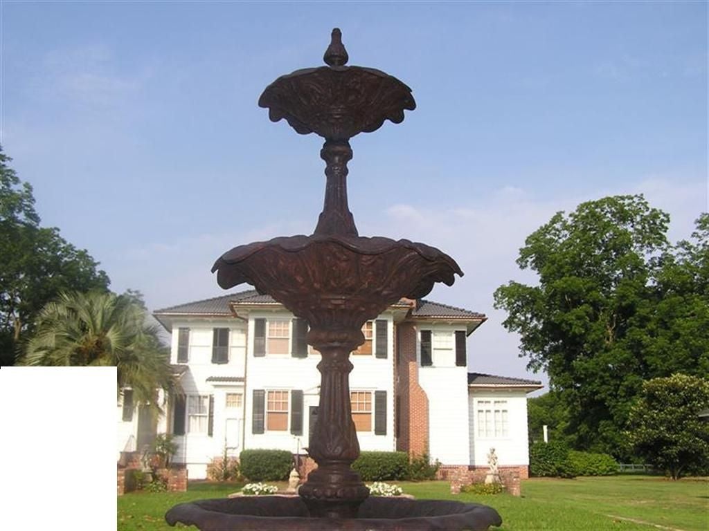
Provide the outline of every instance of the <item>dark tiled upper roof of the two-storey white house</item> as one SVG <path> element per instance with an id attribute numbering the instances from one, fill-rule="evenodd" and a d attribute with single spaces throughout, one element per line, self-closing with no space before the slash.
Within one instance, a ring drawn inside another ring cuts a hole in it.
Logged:
<path id="1" fill-rule="evenodd" d="M 248 305 L 248 304 L 274 304 L 277 305 L 273 297 L 270 295 L 260 295 L 256 290 L 247 290 L 236 293 L 228 293 L 220 297 L 211 299 L 203 299 L 195 302 L 186 302 L 185 304 L 177 304 L 167 308 L 157 309 L 153 314 L 163 326 L 169 328 L 164 322 L 165 317 L 169 316 L 231 316 L 231 306 Z M 409 307 L 411 301 L 402 299 L 395 306 Z M 484 321 L 485 314 L 479 312 L 471 312 L 464 308 L 457 308 L 440 302 L 419 299 L 411 309 L 411 316 L 414 318 L 424 319 L 476 319 Z M 161 319 L 162 318 L 162 319 Z M 479 323 L 478 323 L 479 324 Z"/>

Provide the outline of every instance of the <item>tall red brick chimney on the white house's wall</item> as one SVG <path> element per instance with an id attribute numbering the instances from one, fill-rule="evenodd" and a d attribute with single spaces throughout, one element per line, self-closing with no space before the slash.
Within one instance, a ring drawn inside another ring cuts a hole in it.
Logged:
<path id="1" fill-rule="evenodd" d="M 396 394 L 400 401 L 396 450 L 421 455 L 428 450 L 428 396 L 418 384 L 416 329 L 411 323 L 397 326 Z"/>

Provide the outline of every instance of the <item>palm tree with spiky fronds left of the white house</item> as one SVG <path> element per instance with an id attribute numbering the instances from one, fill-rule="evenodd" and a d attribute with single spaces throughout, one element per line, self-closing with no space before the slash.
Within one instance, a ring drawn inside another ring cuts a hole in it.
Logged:
<path id="1" fill-rule="evenodd" d="M 62 293 L 45 304 L 18 365 L 115 366 L 118 389 L 133 389 L 138 404 L 156 404 L 157 389 L 176 391 L 169 350 L 157 326 L 146 324 L 140 294 Z"/>

